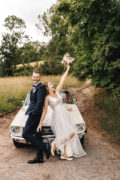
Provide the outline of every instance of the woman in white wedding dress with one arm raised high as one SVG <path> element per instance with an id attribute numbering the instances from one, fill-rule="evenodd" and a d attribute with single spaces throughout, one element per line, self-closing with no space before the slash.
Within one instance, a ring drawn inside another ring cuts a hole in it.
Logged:
<path id="1" fill-rule="evenodd" d="M 54 89 L 54 85 L 50 81 L 45 82 L 44 85 L 47 90 L 47 96 L 45 98 L 40 123 L 37 127 L 37 132 L 39 132 L 42 129 L 42 122 L 46 116 L 48 105 L 50 105 L 53 108 L 52 130 L 55 134 L 55 139 L 51 143 L 51 154 L 54 156 L 55 150 L 60 150 L 60 158 L 65 160 L 72 160 L 72 157 L 82 157 L 86 155 L 81 146 L 73 120 L 69 116 L 65 106 L 63 106 L 63 100 L 59 94 L 69 69 L 70 65 L 67 64 L 67 70 L 63 74 L 56 89 Z"/>

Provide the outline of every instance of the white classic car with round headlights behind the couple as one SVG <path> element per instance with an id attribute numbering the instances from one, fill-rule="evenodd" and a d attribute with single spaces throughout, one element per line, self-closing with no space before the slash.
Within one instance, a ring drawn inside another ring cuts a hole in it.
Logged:
<path id="1" fill-rule="evenodd" d="M 68 110 L 71 118 L 73 119 L 76 125 L 76 131 L 80 138 L 81 143 L 84 143 L 84 135 L 86 134 L 86 125 L 85 121 L 83 120 L 78 107 L 75 104 L 76 99 L 72 99 L 72 96 L 69 91 L 62 90 L 60 94 L 63 97 L 63 105 Z M 10 136 L 13 139 L 13 143 L 16 147 L 21 147 L 24 144 L 29 144 L 26 142 L 25 139 L 22 137 L 22 132 L 28 118 L 28 115 L 25 115 L 28 106 L 30 103 L 30 93 L 27 94 L 25 101 L 22 101 L 23 106 L 18 111 L 16 116 L 14 117 L 11 126 L 10 126 Z M 51 122 L 52 122 L 52 113 L 53 110 L 50 106 L 48 106 L 46 117 L 43 121 L 42 126 L 42 139 L 44 142 L 52 142 L 55 138 L 52 129 L 51 129 Z"/>

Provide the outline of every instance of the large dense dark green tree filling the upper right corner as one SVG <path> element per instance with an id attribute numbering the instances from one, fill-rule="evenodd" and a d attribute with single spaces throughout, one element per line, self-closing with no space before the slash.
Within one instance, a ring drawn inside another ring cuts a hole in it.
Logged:
<path id="1" fill-rule="evenodd" d="M 120 4 L 115 0 L 72 2 L 71 24 L 79 30 L 81 39 L 77 47 L 83 44 L 75 66 L 76 75 L 82 69 L 78 77 L 90 76 L 97 87 L 120 87 L 119 18 Z"/>

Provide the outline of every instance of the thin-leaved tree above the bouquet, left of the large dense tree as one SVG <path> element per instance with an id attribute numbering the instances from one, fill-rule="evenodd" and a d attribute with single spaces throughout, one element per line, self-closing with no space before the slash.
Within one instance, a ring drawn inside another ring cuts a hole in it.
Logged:
<path id="1" fill-rule="evenodd" d="M 58 5 L 52 6 L 42 16 L 38 16 L 37 28 L 51 40 L 47 46 L 47 57 L 49 59 L 61 60 L 66 52 L 72 52 L 72 46 L 67 42 L 69 32 L 68 22 L 63 13 L 58 11 Z"/>

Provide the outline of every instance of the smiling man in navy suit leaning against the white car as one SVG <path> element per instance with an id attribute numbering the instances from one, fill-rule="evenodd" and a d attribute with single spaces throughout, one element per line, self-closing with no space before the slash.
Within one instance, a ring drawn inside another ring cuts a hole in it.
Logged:
<path id="1" fill-rule="evenodd" d="M 33 88 L 30 92 L 30 105 L 26 112 L 28 119 L 23 130 L 23 138 L 31 142 L 37 149 L 37 156 L 28 163 L 43 163 L 43 151 L 46 153 L 47 159 L 50 157 L 50 144 L 43 143 L 41 133 L 37 133 L 36 129 L 40 121 L 43 110 L 44 99 L 46 96 L 46 89 L 40 83 L 40 72 L 34 70 L 32 74 Z"/>

